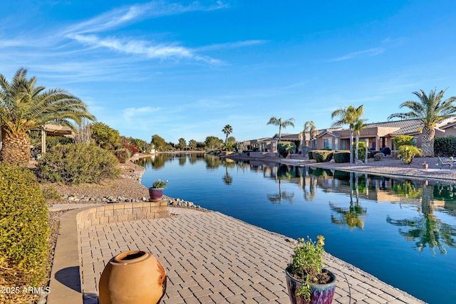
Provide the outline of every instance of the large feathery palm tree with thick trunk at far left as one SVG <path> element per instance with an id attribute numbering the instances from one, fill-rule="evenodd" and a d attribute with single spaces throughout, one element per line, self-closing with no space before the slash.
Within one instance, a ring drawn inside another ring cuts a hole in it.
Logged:
<path id="1" fill-rule="evenodd" d="M 1 161 L 26 164 L 31 157 L 27 132 L 46 123 L 75 130 L 71 120 L 77 124 L 84 118 L 95 120 L 86 103 L 76 96 L 60 88 L 36 87 L 36 81 L 35 77 L 27 79 L 26 68 L 17 70 L 11 83 L 0 74 L 0 126 L 6 132 Z"/>

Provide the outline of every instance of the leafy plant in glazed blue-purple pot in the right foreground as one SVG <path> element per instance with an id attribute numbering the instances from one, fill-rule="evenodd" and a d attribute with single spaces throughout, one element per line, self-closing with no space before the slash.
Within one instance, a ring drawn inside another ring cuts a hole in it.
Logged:
<path id="1" fill-rule="evenodd" d="M 324 266 L 324 237 L 314 242 L 298 239 L 291 263 L 286 267 L 286 285 L 292 304 L 329 304 L 336 290 L 336 276 Z"/>

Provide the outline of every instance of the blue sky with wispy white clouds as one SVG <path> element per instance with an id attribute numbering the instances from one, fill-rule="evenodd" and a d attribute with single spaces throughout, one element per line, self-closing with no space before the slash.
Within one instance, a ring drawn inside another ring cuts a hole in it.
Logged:
<path id="1" fill-rule="evenodd" d="M 121 135 L 268 137 L 272 116 L 386 121 L 412 93 L 456 95 L 456 1 L 6 1 L 0 73 L 28 68 Z"/>

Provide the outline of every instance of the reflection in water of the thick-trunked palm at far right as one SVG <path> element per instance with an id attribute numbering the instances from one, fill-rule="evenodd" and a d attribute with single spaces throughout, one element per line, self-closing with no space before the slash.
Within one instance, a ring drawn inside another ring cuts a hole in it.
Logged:
<path id="1" fill-rule="evenodd" d="M 387 216 L 386 221 L 399 227 L 410 227 L 409 229 L 400 228 L 400 235 L 407 241 L 415 241 L 415 248 L 423 251 L 428 246 L 436 255 L 435 247 L 440 254 L 446 254 L 444 244 L 452 248 L 456 247 L 453 237 L 456 236 L 456 227 L 442 223 L 434 214 L 434 194 L 433 186 L 423 184 L 423 195 L 421 197 L 421 212 L 423 216 L 413 219 L 391 219 Z M 419 209 L 418 209 L 419 210 Z"/>

